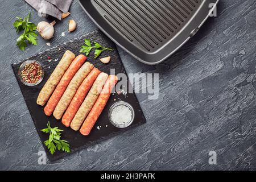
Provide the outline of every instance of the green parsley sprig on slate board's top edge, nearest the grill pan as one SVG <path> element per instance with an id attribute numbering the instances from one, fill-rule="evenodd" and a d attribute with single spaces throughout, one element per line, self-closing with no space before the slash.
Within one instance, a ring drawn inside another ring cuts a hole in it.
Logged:
<path id="1" fill-rule="evenodd" d="M 100 54 L 103 51 L 113 51 L 113 49 L 111 48 L 106 48 L 101 46 L 101 44 L 97 43 L 97 42 L 93 42 L 94 46 L 92 46 L 92 43 L 90 43 L 89 39 L 85 39 L 84 40 L 85 45 L 83 45 L 80 49 L 80 52 L 85 53 L 86 56 L 89 55 L 90 51 L 92 51 L 93 48 L 95 48 L 95 52 L 94 52 L 94 59 L 97 59 L 98 56 L 100 56 Z"/>

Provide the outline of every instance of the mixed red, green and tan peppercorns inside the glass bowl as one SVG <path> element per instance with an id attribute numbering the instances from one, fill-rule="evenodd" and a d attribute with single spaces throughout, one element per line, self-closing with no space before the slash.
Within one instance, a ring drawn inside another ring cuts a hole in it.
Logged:
<path id="1" fill-rule="evenodd" d="M 43 75 L 43 70 L 36 62 L 28 63 L 20 72 L 22 80 L 30 84 L 35 84 Z"/>

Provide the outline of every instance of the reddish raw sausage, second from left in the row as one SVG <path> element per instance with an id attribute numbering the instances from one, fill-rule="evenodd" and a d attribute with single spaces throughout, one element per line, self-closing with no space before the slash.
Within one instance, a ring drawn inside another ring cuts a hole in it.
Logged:
<path id="1" fill-rule="evenodd" d="M 79 70 L 79 68 L 84 64 L 86 56 L 77 56 L 69 66 L 68 70 L 65 72 L 64 76 L 61 78 L 59 84 L 54 90 L 52 96 L 49 98 L 46 107 L 44 107 L 44 113 L 46 115 L 51 115 L 56 105 L 60 101 L 61 96 L 65 92 L 69 82 L 72 80 L 73 76 Z"/>

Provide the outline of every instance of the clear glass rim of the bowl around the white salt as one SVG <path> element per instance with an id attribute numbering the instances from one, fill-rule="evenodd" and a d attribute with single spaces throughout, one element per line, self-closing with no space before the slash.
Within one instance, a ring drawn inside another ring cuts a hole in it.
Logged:
<path id="1" fill-rule="evenodd" d="M 131 111 L 131 121 L 126 123 L 125 125 L 119 125 L 115 122 L 112 121 L 112 118 L 111 118 L 111 114 L 112 114 L 112 111 L 115 107 L 117 106 L 120 106 L 120 105 L 125 105 L 127 107 L 129 107 L 130 111 Z M 113 104 L 110 109 L 109 109 L 109 121 L 112 123 L 112 125 L 114 125 L 115 127 L 118 127 L 118 128 L 125 128 L 125 127 L 128 127 L 131 125 L 131 123 L 133 123 L 134 121 L 134 109 L 133 109 L 133 106 L 131 106 L 128 102 L 124 102 L 124 101 L 119 101 L 119 102 L 115 102 L 115 104 Z"/>

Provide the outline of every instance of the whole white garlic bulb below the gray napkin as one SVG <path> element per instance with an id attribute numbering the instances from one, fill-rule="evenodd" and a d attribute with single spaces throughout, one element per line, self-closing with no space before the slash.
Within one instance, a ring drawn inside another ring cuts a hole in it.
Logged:
<path id="1" fill-rule="evenodd" d="M 54 34 L 54 28 L 53 26 L 55 25 L 55 21 L 53 21 L 52 23 L 48 23 L 48 22 L 40 22 L 38 23 L 38 32 L 39 34 L 42 36 L 42 38 L 49 40 L 52 38 L 53 34 Z"/>

